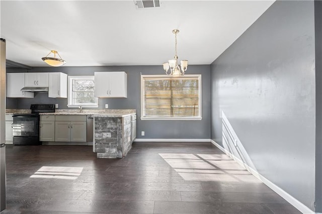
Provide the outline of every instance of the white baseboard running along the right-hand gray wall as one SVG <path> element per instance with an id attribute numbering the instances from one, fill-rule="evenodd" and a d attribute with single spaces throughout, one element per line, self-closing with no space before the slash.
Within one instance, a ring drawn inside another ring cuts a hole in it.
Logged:
<path id="1" fill-rule="evenodd" d="M 234 156 L 233 154 L 231 154 L 228 150 L 224 149 L 222 146 L 220 146 L 219 144 L 217 144 L 215 141 L 210 140 L 210 142 L 213 145 L 215 145 L 216 147 L 218 147 L 218 149 L 220 149 L 221 151 L 223 151 L 226 155 L 228 155 L 233 160 L 235 160 L 238 164 L 240 164 L 241 166 L 244 166 L 250 173 L 252 173 L 255 177 L 257 177 L 259 180 L 261 180 L 264 184 L 266 184 L 268 187 L 270 187 L 273 191 L 275 191 L 277 194 L 279 194 L 281 197 L 283 197 L 287 202 L 289 202 L 290 204 L 292 204 L 299 211 L 301 211 L 302 213 L 305 213 L 305 214 L 306 213 L 307 214 L 308 213 L 315 213 L 310 208 L 308 208 L 303 203 L 301 203 L 296 198 L 294 198 L 292 195 L 290 195 L 287 192 L 285 192 L 283 189 L 281 189 L 280 187 L 278 187 L 277 185 L 275 185 L 274 183 L 272 183 L 270 180 L 268 180 L 267 178 L 265 178 L 263 175 L 261 175 L 260 173 L 258 173 L 256 170 L 254 170 L 253 168 L 251 168 L 250 166 L 248 166 L 247 164 L 245 164 L 239 158 L 237 158 L 236 156 Z"/>

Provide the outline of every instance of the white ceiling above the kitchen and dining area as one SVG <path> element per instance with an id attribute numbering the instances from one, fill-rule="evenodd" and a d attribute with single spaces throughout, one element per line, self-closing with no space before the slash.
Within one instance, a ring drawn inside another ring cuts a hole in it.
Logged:
<path id="1" fill-rule="evenodd" d="M 57 50 L 63 66 L 211 64 L 274 1 L 160 1 L 136 9 L 134 1 L 0 1 L 7 59 L 47 66 Z"/>

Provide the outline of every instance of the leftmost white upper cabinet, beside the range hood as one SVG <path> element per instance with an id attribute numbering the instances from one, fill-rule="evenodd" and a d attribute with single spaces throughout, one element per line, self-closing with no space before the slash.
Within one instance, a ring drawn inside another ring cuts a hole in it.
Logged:
<path id="1" fill-rule="evenodd" d="M 7 97 L 33 98 L 33 92 L 21 91 L 25 87 L 25 73 L 7 73 Z"/>

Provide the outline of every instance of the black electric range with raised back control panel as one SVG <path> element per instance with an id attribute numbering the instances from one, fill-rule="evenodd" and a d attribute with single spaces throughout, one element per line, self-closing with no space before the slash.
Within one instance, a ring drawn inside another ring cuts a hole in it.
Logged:
<path id="1" fill-rule="evenodd" d="M 39 113 L 54 113 L 55 104 L 31 104 L 31 114 L 13 115 L 13 144 L 41 145 L 39 141 Z"/>

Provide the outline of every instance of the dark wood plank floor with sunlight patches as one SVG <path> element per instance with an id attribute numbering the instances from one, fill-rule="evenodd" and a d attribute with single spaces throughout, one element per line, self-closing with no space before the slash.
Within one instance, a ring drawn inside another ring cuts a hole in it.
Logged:
<path id="1" fill-rule="evenodd" d="M 210 143 L 7 146 L 1 213 L 300 213 Z"/>

